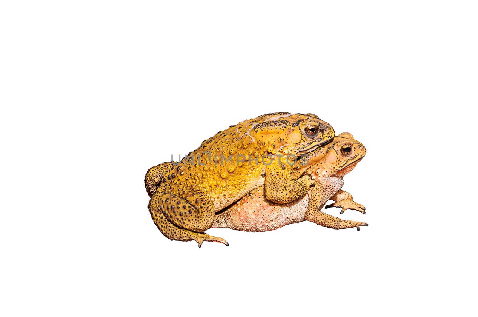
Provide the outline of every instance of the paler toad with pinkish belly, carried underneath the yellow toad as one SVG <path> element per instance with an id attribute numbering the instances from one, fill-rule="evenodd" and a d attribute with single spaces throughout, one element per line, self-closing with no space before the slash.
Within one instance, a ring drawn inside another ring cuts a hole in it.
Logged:
<path id="1" fill-rule="evenodd" d="M 287 204 L 277 204 L 264 199 L 264 189 L 259 187 L 216 215 L 211 228 L 225 227 L 241 231 L 270 231 L 284 225 L 304 220 L 333 229 L 367 226 L 365 222 L 342 220 L 321 211 L 331 199 L 337 201 L 325 208 L 340 207 L 340 213 L 353 209 L 365 213 L 365 207 L 353 201 L 352 195 L 340 190 L 345 174 L 355 168 L 365 156 L 363 144 L 349 133 L 341 133 L 327 144 L 324 154 L 311 156 L 320 159 L 308 166 L 305 175 L 310 175 L 316 184 L 304 197 Z"/>

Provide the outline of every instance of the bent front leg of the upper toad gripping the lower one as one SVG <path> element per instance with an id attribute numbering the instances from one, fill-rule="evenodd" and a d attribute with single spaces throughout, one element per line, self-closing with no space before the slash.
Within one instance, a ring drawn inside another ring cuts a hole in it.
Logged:
<path id="1" fill-rule="evenodd" d="M 280 204 L 295 201 L 304 196 L 314 184 L 315 181 L 308 177 L 293 180 L 290 171 L 282 169 L 276 162 L 266 167 L 264 191 L 270 201 Z"/>

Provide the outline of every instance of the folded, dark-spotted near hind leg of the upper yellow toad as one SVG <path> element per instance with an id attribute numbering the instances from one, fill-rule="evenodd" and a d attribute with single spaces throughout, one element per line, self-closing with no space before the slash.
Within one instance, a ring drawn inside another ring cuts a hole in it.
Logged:
<path id="1" fill-rule="evenodd" d="M 192 195 L 188 199 L 193 200 L 198 207 L 170 193 L 156 192 L 152 196 L 148 208 L 159 231 L 171 240 L 195 240 L 199 247 L 204 241 L 229 245 L 223 238 L 204 233 L 214 219 L 214 209 L 210 210 L 209 200 L 201 194 Z"/>

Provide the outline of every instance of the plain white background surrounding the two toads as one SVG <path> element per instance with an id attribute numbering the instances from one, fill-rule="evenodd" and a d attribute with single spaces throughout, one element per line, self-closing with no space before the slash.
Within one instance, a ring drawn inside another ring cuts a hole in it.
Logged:
<path id="1" fill-rule="evenodd" d="M 476 9 L 2 1 L 1 315 L 476 314 Z M 276 111 L 366 146 L 369 226 L 163 237 L 146 170 Z"/>

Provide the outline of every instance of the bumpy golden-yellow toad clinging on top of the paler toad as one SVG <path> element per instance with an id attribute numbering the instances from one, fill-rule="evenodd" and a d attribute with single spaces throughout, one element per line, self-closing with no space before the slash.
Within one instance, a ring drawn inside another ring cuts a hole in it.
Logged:
<path id="1" fill-rule="evenodd" d="M 152 219 L 171 240 L 196 240 L 199 247 L 204 241 L 228 245 L 204 233 L 215 212 L 262 185 L 266 198 L 276 203 L 304 196 L 314 181 L 293 179 L 295 159 L 334 135 L 334 129 L 313 114 L 272 113 L 230 126 L 180 162 L 148 170 Z"/>

